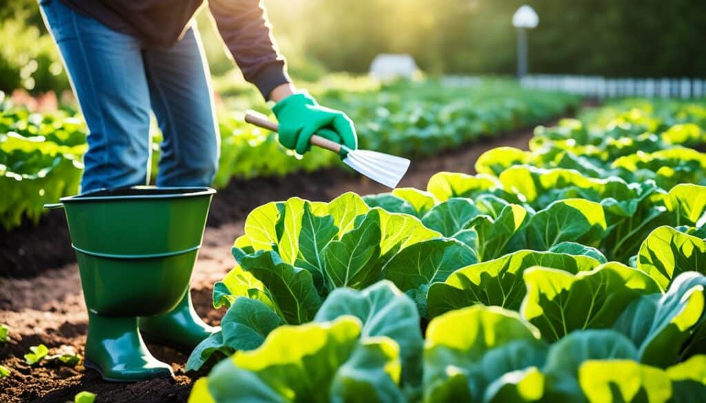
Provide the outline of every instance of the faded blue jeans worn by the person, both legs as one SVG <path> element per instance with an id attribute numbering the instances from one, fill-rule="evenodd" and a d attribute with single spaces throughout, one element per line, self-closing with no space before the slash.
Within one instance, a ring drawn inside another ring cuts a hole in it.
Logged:
<path id="1" fill-rule="evenodd" d="M 88 125 L 81 191 L 148 184 L 150 111 L 162 130 L 157 186 L 210 186 L 220 136 L 201 37 L 145 44 L 59 0 L 40 0 Z"/>

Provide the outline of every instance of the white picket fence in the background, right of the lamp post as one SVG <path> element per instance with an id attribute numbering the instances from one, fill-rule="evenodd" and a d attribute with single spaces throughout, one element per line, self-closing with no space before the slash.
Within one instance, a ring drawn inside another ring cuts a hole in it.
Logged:
<path id="1" fill-rule="evenodd" d="M 587 97 L 706 97 L 702 78 L 605 78 L 601 76 L 528 75 L 520 80 L 525 88 L 573 92 Z"/>

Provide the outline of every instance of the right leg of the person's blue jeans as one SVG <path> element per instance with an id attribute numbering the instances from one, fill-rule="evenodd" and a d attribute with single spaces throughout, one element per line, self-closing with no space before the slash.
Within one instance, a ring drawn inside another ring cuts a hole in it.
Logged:
<path id="1" fill-rule="evenodd" d="M 145 48 L 143 59 L 164 135 L 157 186 L 210 186 L 220 135 L 198 30 L 189 28 L 172 47 Z"/>

